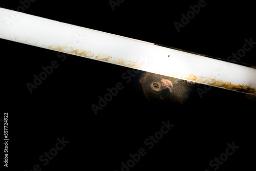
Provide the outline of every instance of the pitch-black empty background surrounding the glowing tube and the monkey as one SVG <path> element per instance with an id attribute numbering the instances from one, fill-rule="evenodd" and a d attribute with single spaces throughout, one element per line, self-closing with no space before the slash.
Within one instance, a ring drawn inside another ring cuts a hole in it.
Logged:
<path id="1" fill-rule="evenodd" d="M 252 1 L 206 1 L 178 33 L 174 22 L 180 23 L 181 14 L 198 2 L 126 0 L 113 11 L 109 1 L 37 0 L 25 13 L 224 60 L 243 48 L 245 38 L 256 41 Z M 14 10 L 20 5 L 0 3 Z M 39 164 L 41 170 L 119 171 L 129 154 L 145 148 L 147 154 L 131 170 L 213 170 L 209 162 L 232 142 L 240 147 L 218 170 L 253 168 L 255 102 L 242 93 L 211 88 L 202 98 L 196 91 L 182 106 L 152 104 L 138 82 L 141 72 L 126 83 L 121 77 L 125 67 L 72 55 L 60 62 L 55 51 L 4 39 L 0 44 L 1 118 L 8 112 L 9 169 L 31 170 Z M 255 66 L 255 54 L 254 47 L 239 62 Z M 26 83 L 53 60 L 59 67 L 30 94 Z M 91 105 L 117 82 L 123 90 L 95 115 Z M 173 129 L 148 149 L 144 140 L 168 120 Z M 62 137 L 69 143 L 44 166 L 39 157 Z"/>

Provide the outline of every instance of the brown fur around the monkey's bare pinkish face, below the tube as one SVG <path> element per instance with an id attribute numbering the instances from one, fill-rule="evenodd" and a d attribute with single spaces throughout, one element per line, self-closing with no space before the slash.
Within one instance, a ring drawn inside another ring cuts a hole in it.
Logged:
<path id="1" fill-rule="evenodd" d="M 172 92 L 168 92 L 165 89 L 156 91 L 152 88 L 152 83 L 161 82 L 162 79 L 168 79 L 173 83 Z M 188 94 L 191 90 L 191 86 L 184 80 L 154 73 L 147 72 L 142 74 L 139 81 L 142 85 L 146 98 L 150 101 L 170 101 L 182 104 L 188 98 Z M 162 94 L 166 95 L 165 99 L 162 98 Z"/>

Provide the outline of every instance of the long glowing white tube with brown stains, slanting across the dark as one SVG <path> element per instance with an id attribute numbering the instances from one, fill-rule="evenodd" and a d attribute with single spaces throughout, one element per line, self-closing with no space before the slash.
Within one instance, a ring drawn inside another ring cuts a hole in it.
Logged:
<path id="1" fill-rule="evenodd" d="M 256 69 L 0 8 L 0 38 L 248 94 Z"/>

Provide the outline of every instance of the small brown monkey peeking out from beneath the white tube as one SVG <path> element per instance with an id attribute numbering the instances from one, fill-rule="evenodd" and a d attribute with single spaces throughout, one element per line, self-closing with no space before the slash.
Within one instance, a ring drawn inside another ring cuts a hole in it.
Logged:
<path id="1" fill-rule="evenodd" d="M 191 90 L 193 90 L 191 85 L 195 85 L 195 82 L 149 72 L 143 73 L 139 82 L 148 100 L 168 101 L 177 104 L 183 104 L 188 99 Z"/>

